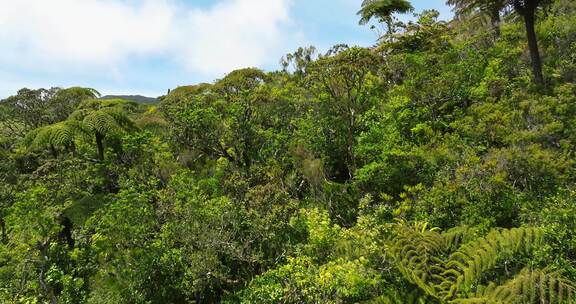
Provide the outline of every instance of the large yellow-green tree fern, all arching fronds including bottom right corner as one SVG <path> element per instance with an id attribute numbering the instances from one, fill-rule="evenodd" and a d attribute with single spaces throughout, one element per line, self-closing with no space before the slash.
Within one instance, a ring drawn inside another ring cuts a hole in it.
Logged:
<path id="1" fill-rule="evenodd" d="M 539 228 L 493 230 L 485 237 L 460 227 L 444 233 L 425 224 L 398 224 L 389 254 L 403 277 L 423 296 L 446 303 L 563 303 L 574 287 L 555 273 L 524 270 L 504 285 L 482 286 L 490 270 L 506 258 L 529 254 L 543 244 Z M 470 297 L 471 296 L 471 297 Z M 396 303 L 393 295 L 380 302 Z"/>

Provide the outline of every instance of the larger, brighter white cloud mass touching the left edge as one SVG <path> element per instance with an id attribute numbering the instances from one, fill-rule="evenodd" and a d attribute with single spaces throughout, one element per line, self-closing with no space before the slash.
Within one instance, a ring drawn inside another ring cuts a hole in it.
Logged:
<path id="1" fill-rule="evenodd" d="M 162 0 L 0 0 L 0 52 L 37 68 L 113 65 L 162 50 L 172 20 Z"/>

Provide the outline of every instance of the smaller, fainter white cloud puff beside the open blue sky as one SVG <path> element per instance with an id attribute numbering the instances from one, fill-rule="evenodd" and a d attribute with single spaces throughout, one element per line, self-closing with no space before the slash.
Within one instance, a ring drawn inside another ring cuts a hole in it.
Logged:
<path id="1" fill-rule="evenodd" d="M 285 0 L 223 1 L 209 10 L 188 12 L 179 26 L 175 41 L 184 50 L 183 61 L 203 73 L 224 73 L 244 66 L 260 66 L 279 59 L 282 32 L 289 23 L 289 3 Z"/>

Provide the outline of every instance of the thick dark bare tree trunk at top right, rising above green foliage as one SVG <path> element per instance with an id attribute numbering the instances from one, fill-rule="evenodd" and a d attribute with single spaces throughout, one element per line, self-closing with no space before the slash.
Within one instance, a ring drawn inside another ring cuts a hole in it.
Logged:
<path id="1" fill-rule="evenodd" d="M 540 51 L 538 50 L 538 40 L 536 38 L 535 20 L 536 20 L 536 1 L 527 1 L 520 14 L 524 17 L 526 26 L 526 38 L 528 39 L 528 49 L 530 51 L 530 60 L 532 63 L 532 73 L 534 82 L 539 85 L 544 84 L 542 74 L 542 62 L 540 61 Z"/>

